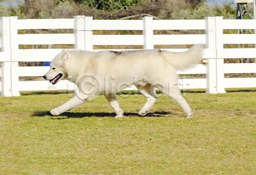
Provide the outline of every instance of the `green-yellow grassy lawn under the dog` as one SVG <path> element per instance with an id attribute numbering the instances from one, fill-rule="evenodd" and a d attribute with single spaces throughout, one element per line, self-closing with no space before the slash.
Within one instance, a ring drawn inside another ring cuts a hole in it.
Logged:
<path id="1" fill-rule="evenodd" d="M 138 117 L 142 95 L 119 96 L 114 119 L 103 96 L 64 113 L 67 92 L 0 97 L 0 174 L 239 174 L 256 172 L 256 90 L 187 92 L 194 111 L 159 94 Z"/>

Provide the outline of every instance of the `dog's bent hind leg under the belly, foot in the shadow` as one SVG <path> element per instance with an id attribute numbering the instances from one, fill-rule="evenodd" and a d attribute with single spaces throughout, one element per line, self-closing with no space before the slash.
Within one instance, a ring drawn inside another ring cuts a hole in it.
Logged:
<path id="1" fill-rule="evenodd" d="M 141 108 L 139 111 L 140 116 L 145 116 L 148 111 L 153 107 L 154 103 L 157 100 L 157 96 L 154 91 L 154 87 L 151 86 L 151 84 L 147 84 L 145 86 L 138 86 L 136 85 L 137 89 L 139 90 L 140 93 L 142 93 L 146 98 L 147 102 L 144 104 L 144 106 Z"/>

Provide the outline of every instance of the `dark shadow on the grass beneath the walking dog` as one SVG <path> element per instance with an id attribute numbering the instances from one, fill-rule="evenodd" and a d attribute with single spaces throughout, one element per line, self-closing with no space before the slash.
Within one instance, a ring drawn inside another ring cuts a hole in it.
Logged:
<path id="1" fill-rule="evenodd" d="M 147 113 L 146 116 L 139 116 L 138 113 L 125 113 L 124 116 L 128 117 L 164 117 L 169 116 L 171 112 L 152 112 Z M 52 116 L 49 111 L 35 111 L 32 114 L 32 117 L 45 117 Z M 74 112 L 65 112 L 59 116 L 52 116 L 52 119 L 69 119 L 69 118 L 84 118 L 84 117 L 115 117 L 116 113 L 74 113 Z"/>

